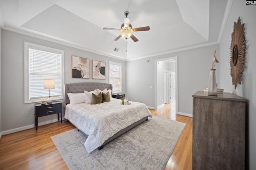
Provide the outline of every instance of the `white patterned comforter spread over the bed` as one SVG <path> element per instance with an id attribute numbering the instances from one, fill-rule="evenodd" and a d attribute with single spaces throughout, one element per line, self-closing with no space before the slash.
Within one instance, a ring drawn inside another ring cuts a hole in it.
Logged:
<path id="1" fill-rule="evenodd" d="M 111 98 L 110 102 L 101 104 L 66 106 L 64 118 L 88 135 L 84 147 L 89 153 L 118 131 L 143 117 L 152 117 L 145 104 L 130 102 L 131 105 L 121 105 L 120 102 L 119 99 Z"/>

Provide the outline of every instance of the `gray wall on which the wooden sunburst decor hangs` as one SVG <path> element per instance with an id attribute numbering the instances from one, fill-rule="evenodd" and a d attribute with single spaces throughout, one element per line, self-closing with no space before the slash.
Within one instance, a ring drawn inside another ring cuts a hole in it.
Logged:
<path id="1" fill-rule="evenodd" d="M 246 108 L 246 169 L 256 169 L 256 6 L 247 6 L 245 1 L 234 0 L 220 41 L 220 84 L 224 91 L 244 97 Z M 230 76 L 230 44 L 234 22 L 240 17 L 245 25 L 246 57 L 242 85 L 234 89 Z M 249 157 L 248 157 L 249 156 Z"/>

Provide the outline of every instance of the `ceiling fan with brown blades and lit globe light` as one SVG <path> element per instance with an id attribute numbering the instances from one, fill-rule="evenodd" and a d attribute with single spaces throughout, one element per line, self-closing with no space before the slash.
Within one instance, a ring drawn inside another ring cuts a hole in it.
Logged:
<path id="1" fill-rule="evenodd" d="M 124 12 L 124 23 L 122 23 L 121 25 L 121 28 L 118 29 L 118 28 L 103 28 L 103 29 L 108 29 L 108 30 L 118 30 L 118 31 L 121 31 L 120 35 L 118 35 L 118 37 L 116 37 L 114 39 L 114 41 L 117 41 L 118 39 L 120 39 L 120 37 L 124 37 L 125 39 L 128 39 L 129 37 L 131 37 L 131 39 L 134 41 L 134 42 L 137 42 L 139 41 L 133 34 L 132 32 L 134 31 L 148 31 L 149 30 L 149 26 L 147 27 L 139 27 L 139 28 L 132 28 L 132 24 L 130 24 L 130 18 L 127 18 L 129 12 L 126 11 Z"/>

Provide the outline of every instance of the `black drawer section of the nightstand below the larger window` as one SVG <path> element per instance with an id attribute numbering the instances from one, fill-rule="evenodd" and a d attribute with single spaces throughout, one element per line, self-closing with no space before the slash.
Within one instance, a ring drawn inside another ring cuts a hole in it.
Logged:
<path id="1" fill-rule="evenodd" d="M 60 104 L 47 104 L 36 107 L 36 117 L 46 116 L 62 112 L 62 103 Z"/>

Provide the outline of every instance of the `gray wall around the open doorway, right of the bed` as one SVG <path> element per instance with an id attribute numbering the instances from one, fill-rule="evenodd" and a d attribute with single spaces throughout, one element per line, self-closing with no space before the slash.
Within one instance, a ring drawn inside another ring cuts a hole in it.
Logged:
<path id="1" fill-rule="evenodd" d="M 154 82 L 155 60 L 177 57 L 178 62 L 178 112 L 192 116 L 192 95 L 208 87 L 208 78 L 212 67 L 212 54 L 216 50 L 219 59 L 219 45 L 210 45 L 176 53 L 159 55 L 147 59 L 126 63 L 126 93 L 129 100 L 137 98 L 149 107 L 155 107 Z M 146 63 L 146 60 L 149 60 Z M 219 64 L 216 64 L 216 82 L 219 84 Z M 153 89 L 149 87 L 153 86 Z M 221 88 L 218 85 L 218 88 Z"/>

